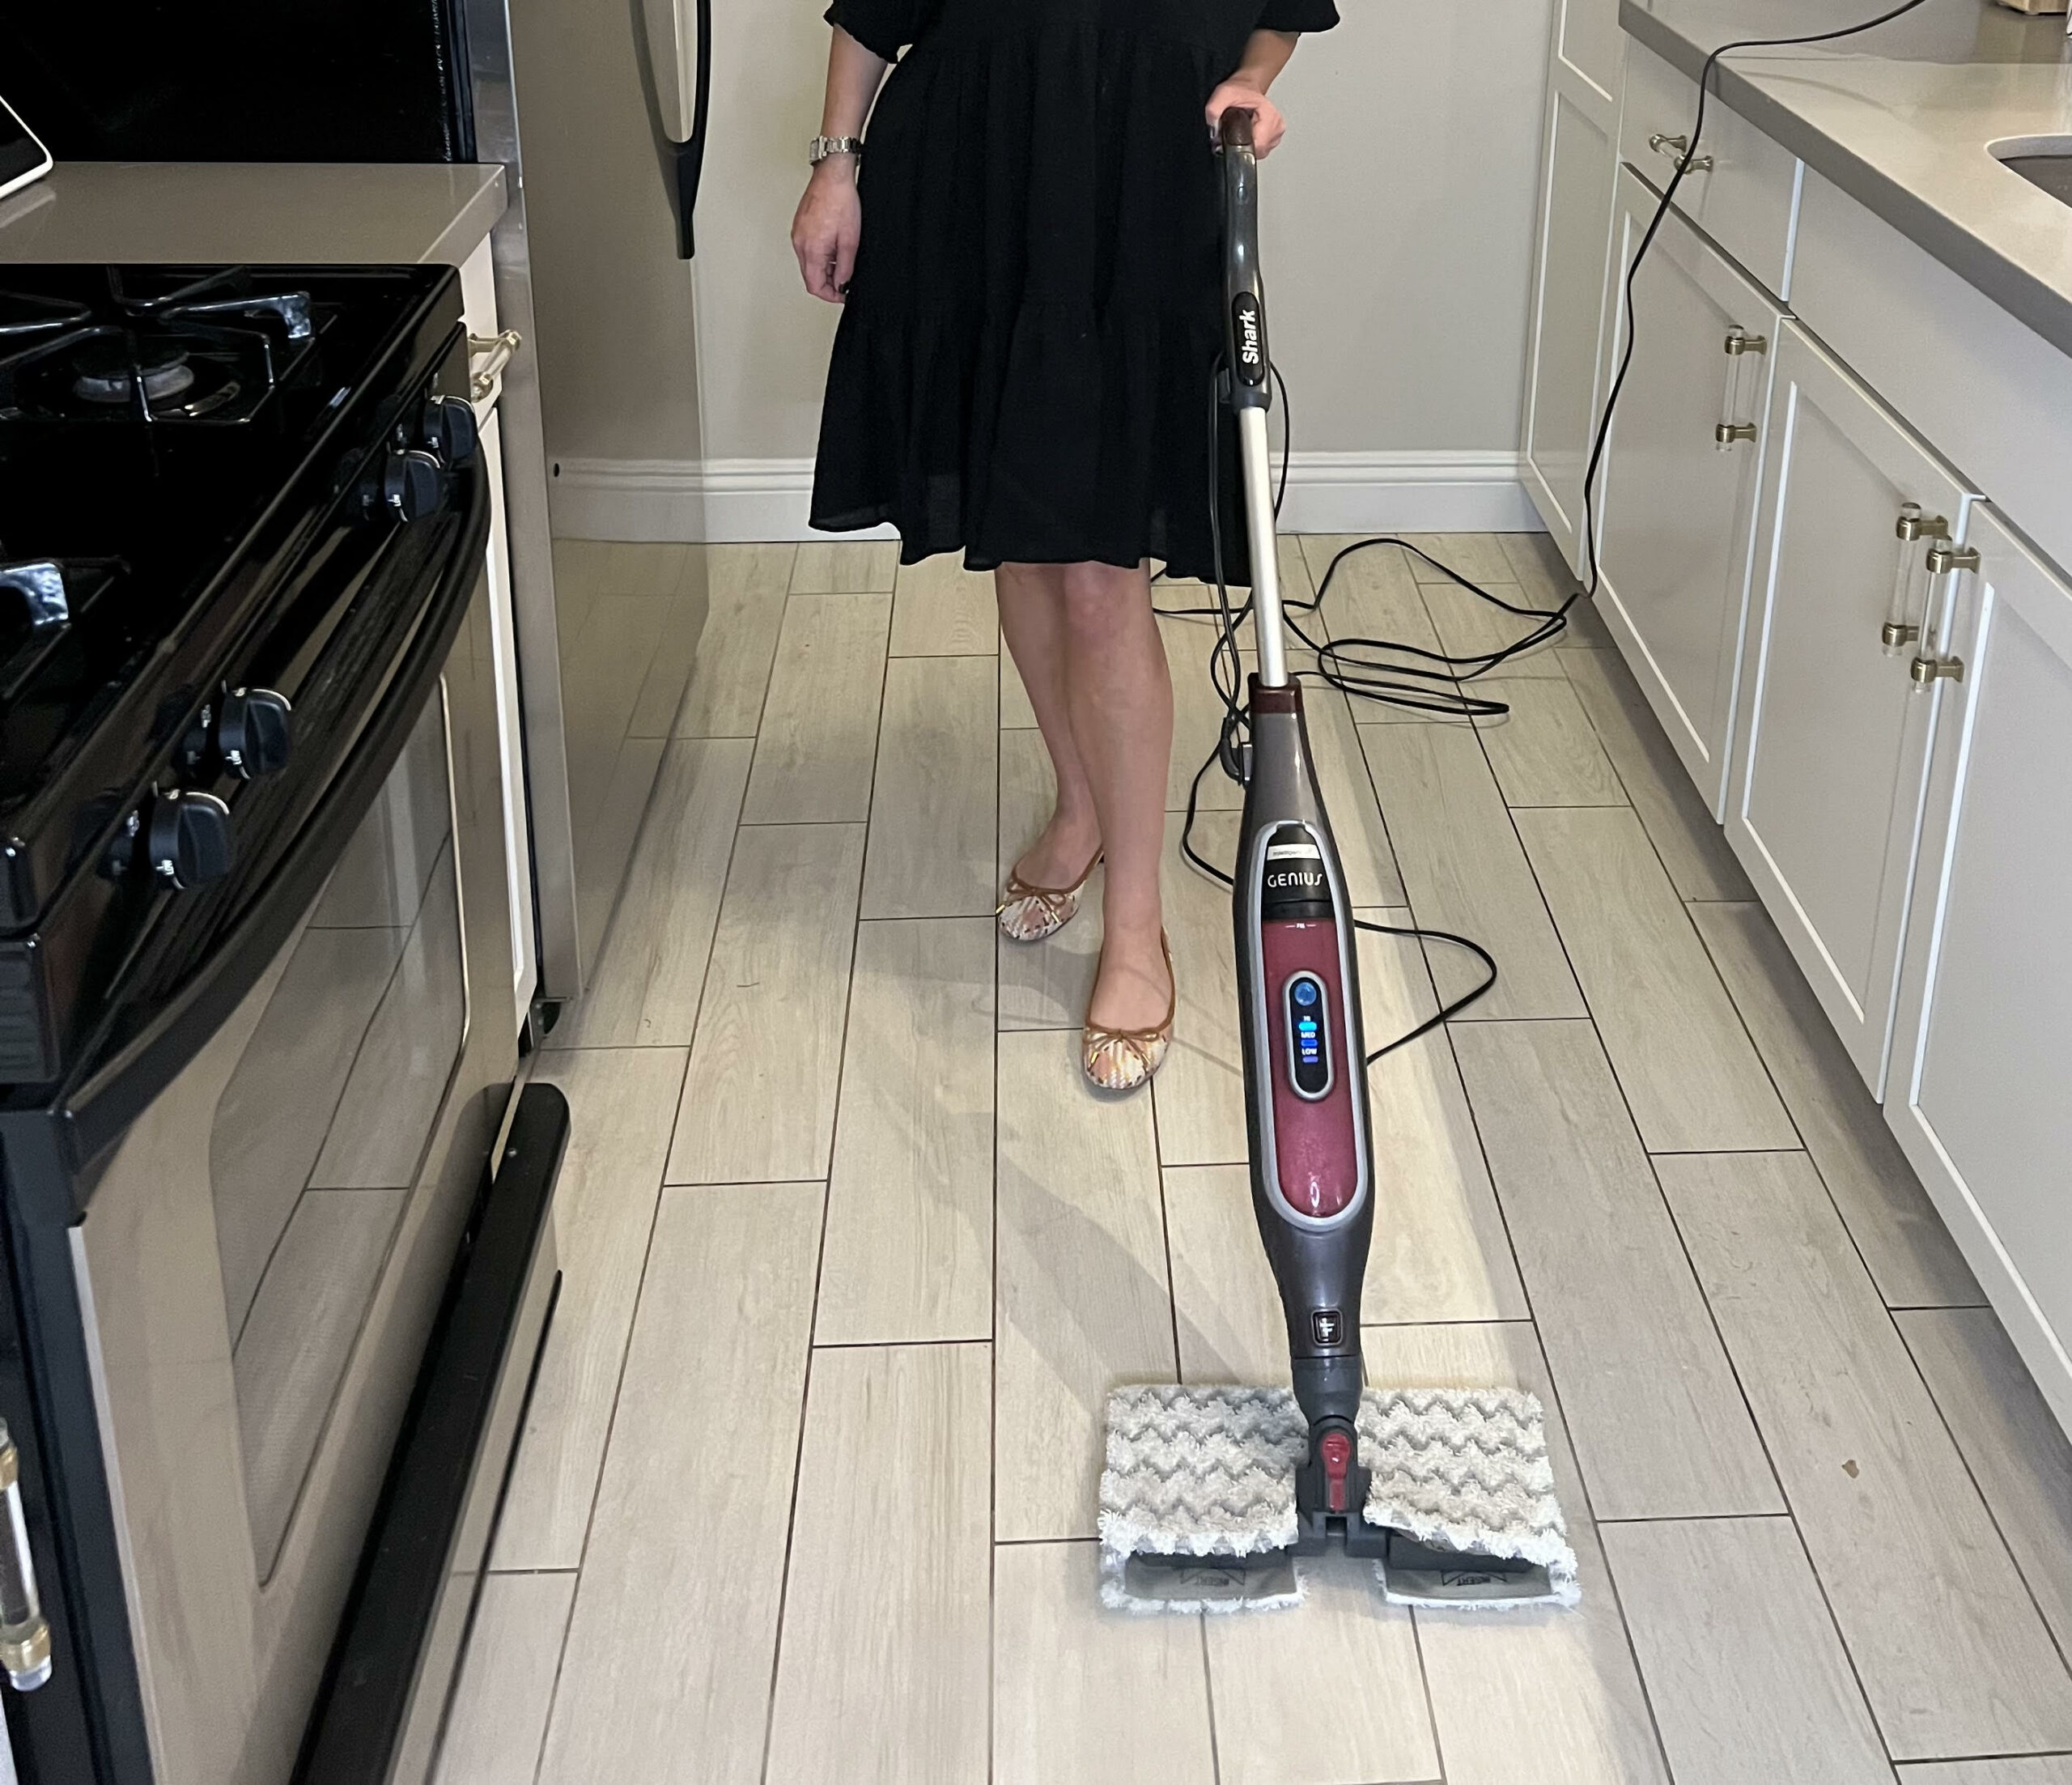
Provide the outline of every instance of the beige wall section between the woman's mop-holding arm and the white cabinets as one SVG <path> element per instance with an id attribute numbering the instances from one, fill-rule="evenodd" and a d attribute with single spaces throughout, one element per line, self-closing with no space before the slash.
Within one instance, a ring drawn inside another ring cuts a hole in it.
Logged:
<path id="1" fill-rule="evenodd" d="M 1339 0 L 1274 97 L 1262 176 L 1274 359 L 1301 452 L 1510 452 L 1548 0 Z"/>

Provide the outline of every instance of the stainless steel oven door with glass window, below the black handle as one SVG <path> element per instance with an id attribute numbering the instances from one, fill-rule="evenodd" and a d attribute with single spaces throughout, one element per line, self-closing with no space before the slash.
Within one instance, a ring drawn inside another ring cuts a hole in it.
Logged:
<path id="1" fill-rule="evenodd" d="M 367 753 L 365 817 L 340 848 L 319 813 L 66 1234 L 153 1785 L 290 1777 L 516 1072 L 479 570 Z"/>

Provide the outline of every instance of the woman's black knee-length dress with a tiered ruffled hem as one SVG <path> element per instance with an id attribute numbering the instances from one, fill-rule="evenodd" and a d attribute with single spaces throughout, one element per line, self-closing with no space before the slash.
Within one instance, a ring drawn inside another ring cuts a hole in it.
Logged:
<path id="1" fill-rule="evenodd" d="M 1222 187 L 1202 108 L 1256 29 L 1332 0 L 833 0 L 887 60 L 812 525 L 901 558 L 1247 574 L 1212 425 Z"/>

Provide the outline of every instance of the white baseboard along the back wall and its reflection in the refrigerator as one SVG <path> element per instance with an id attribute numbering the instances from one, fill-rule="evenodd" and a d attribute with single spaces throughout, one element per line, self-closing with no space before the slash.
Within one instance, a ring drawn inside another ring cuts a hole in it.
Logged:
<path id="1" fill-rule="evenodd" d="M 810 458 L 557 458 L 562 539 L 816 539 Z M 1537 533 L 1515 452 L 1297 452 L 1283 533 Z M 852 535 L 891 539 L 889 527 Z"/>

